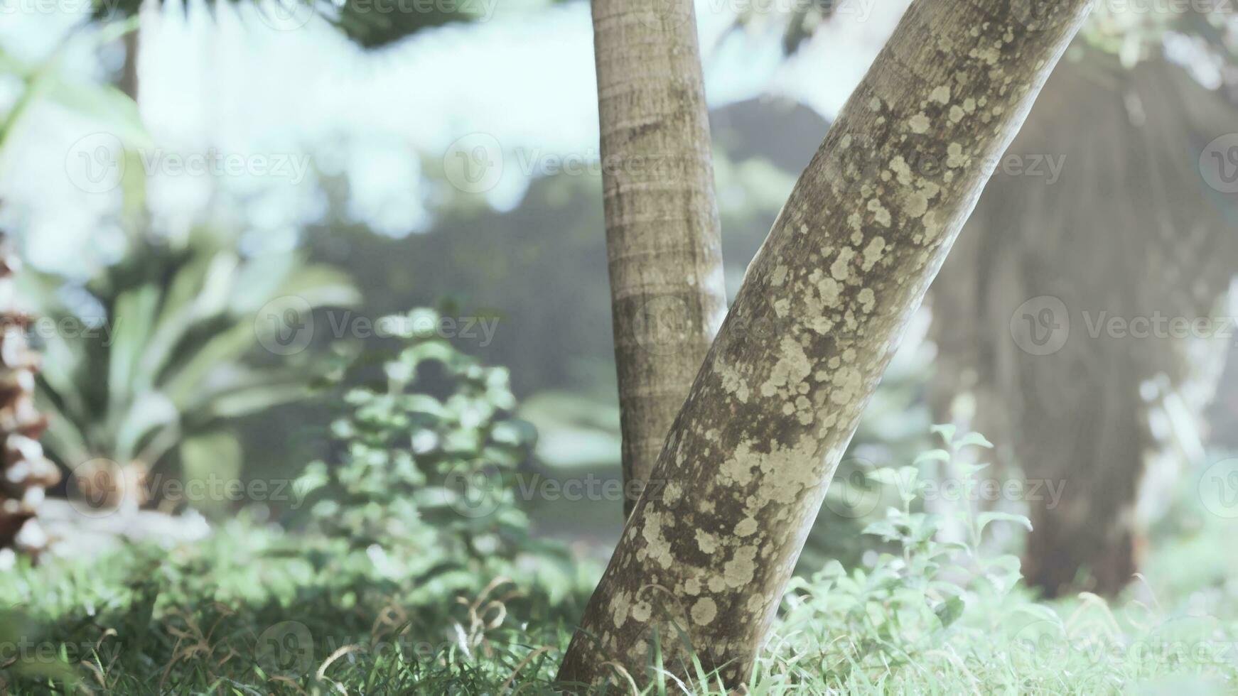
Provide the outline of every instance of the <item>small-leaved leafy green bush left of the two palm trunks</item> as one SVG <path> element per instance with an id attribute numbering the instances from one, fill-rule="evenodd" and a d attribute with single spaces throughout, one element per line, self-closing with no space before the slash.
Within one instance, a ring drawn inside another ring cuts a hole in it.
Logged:
<path id="1" fill-rule="evenodd" d="M 381 361 L 358 361 L 347 412 L 332 425 L 339 464 L 317 461 L 296 482 L 316 498 L 314 527 L 344 540 L 391 577 L 438 579 L 479 590 L 510 575 L 510 560 L 547 550 L 529 534 L 517 470 L 534 429 L 511 418 L 504 367 L 483 366 L 435 334 L 437 313 L 417 309 L 380 325 L 400 336 Z M 343 572 L 342 576 L 347 576 Z"/>

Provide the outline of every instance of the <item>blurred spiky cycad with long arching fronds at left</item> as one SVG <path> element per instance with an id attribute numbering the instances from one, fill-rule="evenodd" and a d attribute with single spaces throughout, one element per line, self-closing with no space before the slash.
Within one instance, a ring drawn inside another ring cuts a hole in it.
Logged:
<path id="1" fill-rule="evenodd" d="M 206 231 L 180 245 L 139 237 L 82 286 L 38 281 L 30 295 L 52 319 L 38 331 L 48 451 L 105 508 L 140 504 L 146 473 L 188 449 L 235 449 L 213 436 L 227 422 L 307 396 L 321 351 L 284 350 L 272 333 L 312 334 L 310 312 L 358 300 L 342 271 L 295 253 L 245 257 Z"/>

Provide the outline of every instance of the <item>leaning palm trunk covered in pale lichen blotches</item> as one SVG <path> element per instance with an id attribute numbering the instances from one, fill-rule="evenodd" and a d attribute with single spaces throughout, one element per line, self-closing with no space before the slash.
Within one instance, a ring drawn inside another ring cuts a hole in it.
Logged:
<path id="1" fill-rule="evenodd" d="M 748 679 L 860 412 L 1086 7 L 911 5 L 749 267 L 562 681 L 645 684 L 655 635 L 677 675 L 690 644 Z"/>

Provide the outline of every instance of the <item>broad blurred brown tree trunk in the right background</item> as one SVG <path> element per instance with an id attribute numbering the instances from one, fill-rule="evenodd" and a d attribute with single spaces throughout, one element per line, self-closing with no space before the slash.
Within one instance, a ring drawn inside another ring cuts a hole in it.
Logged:
<path id="1" fill-rule="evenodd" d="M 1234 204 L 1201 184 L 1198 153 L 1236 122 L 1169 61 L 1063 64 L 1008 153 L 1061 157 L 1061 177 L 994 176 L 930 292 L 936 419 L 984 433 L 1003 476 L 1018 465 L 1061 491 L 1016 501 L 1032 520 L 1024 575 L 1047 596 L 1130 582 L 1165 492 L 1205 456 L 1229 341 L 1088 324 L 1226 314 Z"/>

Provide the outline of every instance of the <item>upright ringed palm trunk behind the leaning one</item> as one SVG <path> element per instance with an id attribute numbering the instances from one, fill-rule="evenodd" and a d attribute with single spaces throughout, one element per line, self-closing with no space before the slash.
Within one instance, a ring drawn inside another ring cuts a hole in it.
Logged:
<path id="1" fill-rule="evenodd" d="M 594 0 L 624 512 L 727 312 L 691 0 Z"/>

